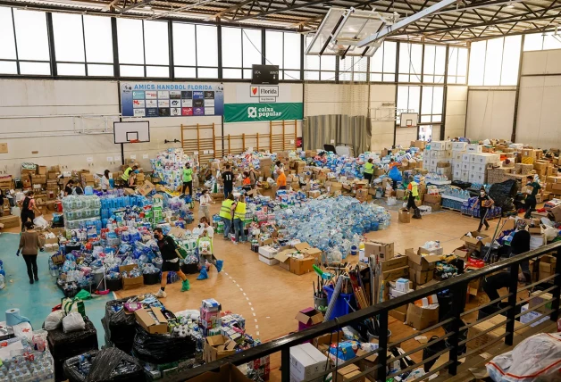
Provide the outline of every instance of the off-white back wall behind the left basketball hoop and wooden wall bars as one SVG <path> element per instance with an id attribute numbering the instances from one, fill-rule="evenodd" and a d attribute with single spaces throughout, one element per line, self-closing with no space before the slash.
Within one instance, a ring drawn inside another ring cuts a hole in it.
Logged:
<path id="1" fill-rule="evenodd" d="M 235 103 L 237 84 L 225 84 L 225 102 Z M 284 86 L 284 85 L 283 85 Z M 288 85 L 292 87 L 292 85 Z M 80 168 L 102 172 L 117 170 L 121 161 L 121 146 L 113 144 L 113 132 L 101 133 L 105 121 L 113 126 L 119 110 L 117 81 L 30 80 L 0 79 L 0 143 L 8 144 L 8 153 L 0 154 L 0 173 L 19 176 L 21 162 L 35 162 L 46 166 L 61 165 L 64 169 Z M 291 89 L 293 102 L 302 102 L 302 85 Z M 75 118 L 76 115 L 95 117 Z M 100 117 L 100 115 L 106 117 Z M 40 118 L 22 118 L 38 116 Z M 49 117 L 46 117 L 49 116 Z M 11 118 L 16 117 L 16 118 Z M 54 117 L 54 118 L 53 118 Z M 124 119 L 126 120 L 126 119 Z M 125 159 L 136 155 L 137 162 L 150 168 L 155 154 L 180 144 L 164 144 L 165 139 L 180 139 L 180 125 L 215 123 L 215 134 L 222 134 L 221 117 L 169 117 L 150 121 L 151 141 L 146 144 L 125 145 Z M 96 129 L 96 134 L 84 134 L 81 127 Z M 225 134 L 269 133 L 268 122 L 230 123 Z M 301 136 L 301 121 L 297 136 Z M 191 137 L 197 138 L 193 132 Z M 37 154 L 34 154 L 37 152 Z M 107 162 L 113 157 L 113 162 Z M 88 162 L 92 158 L 93 162 Z"/>

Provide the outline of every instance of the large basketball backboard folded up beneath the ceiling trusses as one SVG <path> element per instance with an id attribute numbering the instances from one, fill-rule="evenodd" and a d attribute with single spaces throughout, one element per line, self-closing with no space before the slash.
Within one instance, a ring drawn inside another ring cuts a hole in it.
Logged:
<path id="1" fill-rule="evenodd" d="M 312 43 L 306 49 L 306 54 L 370 57 L 381 46 L 383 39 L 360 48 L 358 43 L 397 20 L 397 13 L 332 7 L 323 18 Z"/>

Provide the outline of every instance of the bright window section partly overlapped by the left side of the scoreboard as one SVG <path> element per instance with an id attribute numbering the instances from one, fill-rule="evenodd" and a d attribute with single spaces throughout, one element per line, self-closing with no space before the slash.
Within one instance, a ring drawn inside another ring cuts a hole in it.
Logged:
<path id="1" fill-rule="evenodd" d="M 263 63 L 261 30 L 222 28 L 222 76 L 224 79 L 251 79 L 253 64 Z"/>

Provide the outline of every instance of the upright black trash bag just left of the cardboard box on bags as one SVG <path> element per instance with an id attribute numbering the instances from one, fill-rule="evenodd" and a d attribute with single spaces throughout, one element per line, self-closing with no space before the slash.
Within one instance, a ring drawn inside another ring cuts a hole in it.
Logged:
<path id="1" fill-rule="evenodd" d="M 113 307 L 121 306 L 129 300 L 130 297 L 105 303 L 105 318 L 102 320 L 102 324 L 105 328 L 105 335 L 109 337 L 116 347 L 125 353 L 130 353 L 132 349 L 137 320 L 134 314 L 125 314 L 124 309 L 121 309 L 121 311 L 113 311 Z"/>

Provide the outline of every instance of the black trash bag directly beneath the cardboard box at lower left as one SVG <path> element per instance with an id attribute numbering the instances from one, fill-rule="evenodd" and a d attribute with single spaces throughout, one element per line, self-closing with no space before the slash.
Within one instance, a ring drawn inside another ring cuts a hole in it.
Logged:
<path id="1" fill-rule="evenodd" d="M 155 364 L 185 360 L 193 357 L 196 351 L 197 343 L 191 336 L 150 334 L 144 328 L 137 328 L 132 345 L 135 357 Z"/>

